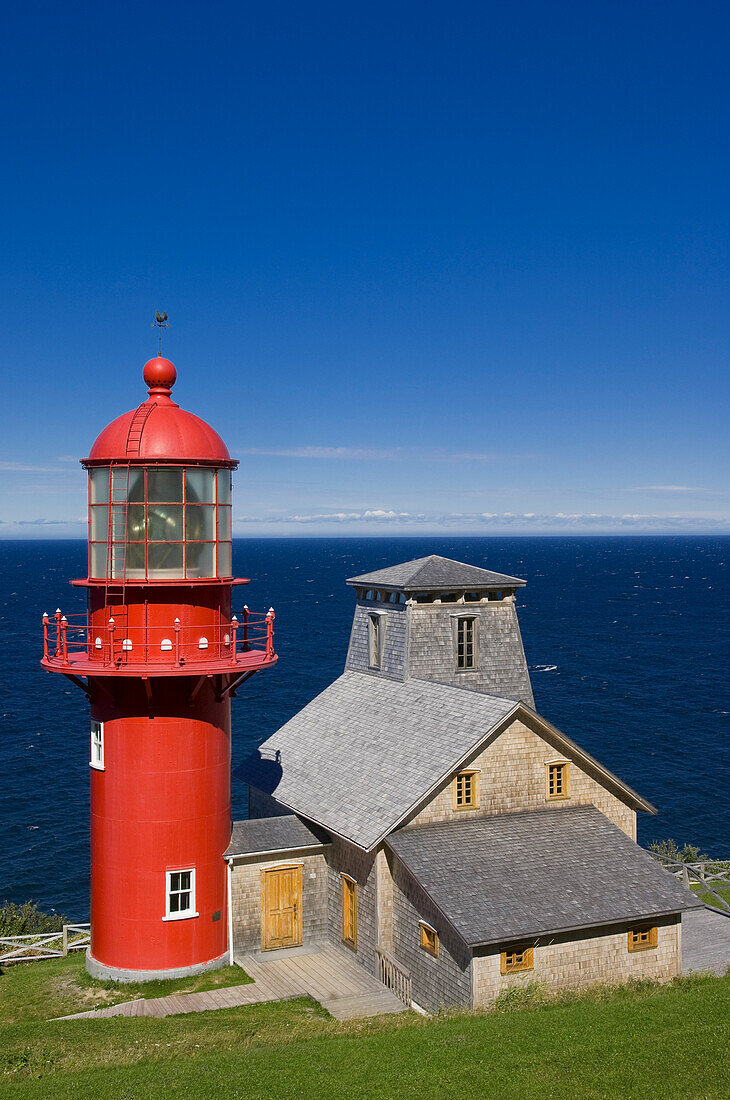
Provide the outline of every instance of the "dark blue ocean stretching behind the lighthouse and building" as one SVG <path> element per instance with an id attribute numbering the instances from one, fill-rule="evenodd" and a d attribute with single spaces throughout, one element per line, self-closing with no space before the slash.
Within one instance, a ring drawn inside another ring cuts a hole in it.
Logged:
<path id="1" fill-rule="evenodd" d="M 233 766 L 342 671 L 352 576 L 441 553 L 522 576 L 538 710 L 659 807 L 663 837 L 730 857 L 728 537 L 240 539 L 236 609 L 276 609 L 276 668 L 233 705 Z M 88 919 L 88 711 L 44 673 L 44 610 L 84 610 L 81 541 L 0 542 L 0 899 Z M 317 760 L 312 760 L 317 767 Z M 235 817 L 246 790 L 234 781 Z"/>

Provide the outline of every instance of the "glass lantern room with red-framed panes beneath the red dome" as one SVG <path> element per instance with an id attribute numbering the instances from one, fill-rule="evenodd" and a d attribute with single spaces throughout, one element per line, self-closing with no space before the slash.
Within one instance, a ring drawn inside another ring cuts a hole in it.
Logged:
<path id="1" fill-rule="evenodd" d="M 89 471 L 92 578 L 231 576 L 231 471 L 98 466 Z"/>

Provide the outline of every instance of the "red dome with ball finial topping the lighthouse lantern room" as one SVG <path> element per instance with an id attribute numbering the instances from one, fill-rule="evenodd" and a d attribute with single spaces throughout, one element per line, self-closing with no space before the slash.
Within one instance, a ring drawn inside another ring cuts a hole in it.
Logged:
<path id="1" fill-rule="evenodd" d="M 169 360 L 151 359 L 144 367 L 150 397 L 104 428 L 85 464 L 132 461 L 237 465 L 218 432 L 172 399 L 176 371 Z"/>

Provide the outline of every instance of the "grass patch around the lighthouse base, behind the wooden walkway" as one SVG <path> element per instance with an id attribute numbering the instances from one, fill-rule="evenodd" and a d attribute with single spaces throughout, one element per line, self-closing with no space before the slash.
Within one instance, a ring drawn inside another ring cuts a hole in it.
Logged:
<path id="1" fill-rule="evenodd" d="M 137 997 L 198 993 L 204 989 L 243 986 L 252 979 L 237 966 L 172 981 L 97 981 L 86 971 L 84 953 L 66 958 L 20 963 L 0 974 L 0 1025 L 21 1020 L 48 1020 Z"/>

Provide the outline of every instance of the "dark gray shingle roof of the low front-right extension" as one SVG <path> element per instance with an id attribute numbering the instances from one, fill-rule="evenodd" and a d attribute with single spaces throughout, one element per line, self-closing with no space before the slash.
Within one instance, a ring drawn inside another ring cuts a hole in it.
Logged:
<path id="1" fill-rule="evenodd" d="M 595 806 L 406 827 L 387 844 L 472 946 L 700 904 Z"/>

